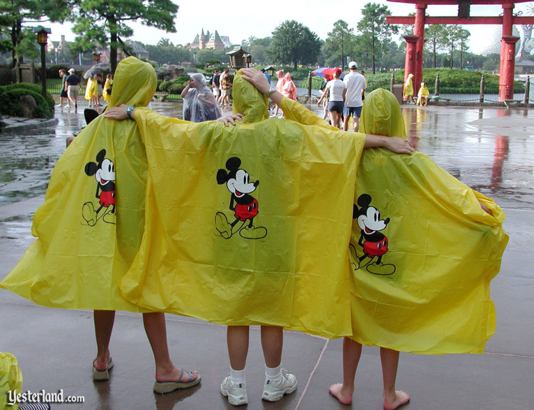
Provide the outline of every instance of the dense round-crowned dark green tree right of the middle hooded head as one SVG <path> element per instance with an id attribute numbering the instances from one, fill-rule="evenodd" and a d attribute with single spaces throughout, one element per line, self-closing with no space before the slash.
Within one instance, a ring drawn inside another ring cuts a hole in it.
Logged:
<path id="1" fill-rule="evenodd" d="M 270 55 L 277 63 L 313 64 L 321 52 L 321 41 L 316 33 L 296 22 L 286 20 L 273 31 Z"/>

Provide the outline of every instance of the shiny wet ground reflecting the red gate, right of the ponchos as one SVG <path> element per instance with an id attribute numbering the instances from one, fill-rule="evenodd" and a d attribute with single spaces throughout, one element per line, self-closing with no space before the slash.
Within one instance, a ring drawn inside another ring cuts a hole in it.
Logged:
<path id="1" fill-rule="evenodd" d="M 409 140 L 450 174 L 510 208 L 532 208 L 534 111 L 403 108 Z"/>

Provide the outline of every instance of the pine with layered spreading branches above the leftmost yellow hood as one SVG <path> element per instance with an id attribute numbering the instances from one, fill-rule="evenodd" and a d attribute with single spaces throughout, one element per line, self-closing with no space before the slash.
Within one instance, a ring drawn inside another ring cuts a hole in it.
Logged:
<path id="1" fill-rule="evenodd" d="M 120 37 L 132 36 L 128 21 L 140 20 L 146 26 L 176 32 L 174 17 L 178 6 L 171 0 L 74 0 L 69 20 L 74 22 L 76 47 L 93 49 L 109 44 L 109 63 L 112 72 L 117 65 Z"/>

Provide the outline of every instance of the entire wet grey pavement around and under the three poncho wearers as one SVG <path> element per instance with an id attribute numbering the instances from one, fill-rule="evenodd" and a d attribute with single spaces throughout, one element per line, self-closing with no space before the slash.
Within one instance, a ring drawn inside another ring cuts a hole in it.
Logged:
<path id="1" fill-rule="evenodd" d="M 176 103 L 153 103 L 179 116 Z M 316 106 L 308 106 L 315 112 Z M 31 215 L 43 202 L 47 179 L 65 137 L 84 125 L 77 113 L 56 111 L 52 130 L 0 134 L 0 280 L 33 242 Z M 411 394 L 407 410 L 534 409 L 534 109 L 403 107 L 410 142 L 458 179 L 493 197 L 508 218 L 510 243 L 491 282 L 497 330 L 482 355 L 401 354 L 397 388 Z M 461 273 L 459 273 L 461 274 Z M 194 301 L 192 301 L 194 303 Z M 342 380 L 342 340 L 284 333 L 283 367 L 298 378 L 295 393 L 262 402 L 264 365 L 259 328 L 251 328 L 247 409 L 349 409 L 328 395 Z M 199 370 L 200 386 L 155 395 L 153 358 L 139 314 L 118 312 L 111 342 L 109 382 L 93 383 L 96 354 L 92 312 L 41 307 L 0 289 L 0 351 L 19 360 L 23 391 L 82 395 L 83 404 L 52 409 L 229 409 L 219 393 L 229 363 L 225 328 L 167 314 L 169 350 L 176 365 Z M 363 349 L 353 409 L 381 409 L 379 349 Z"/>

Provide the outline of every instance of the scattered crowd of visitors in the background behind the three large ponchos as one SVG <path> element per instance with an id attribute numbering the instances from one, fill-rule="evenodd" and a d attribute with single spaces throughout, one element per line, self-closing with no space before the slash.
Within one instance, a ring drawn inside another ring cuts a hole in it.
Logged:
<path id="1" fill-rule="evenodd" d="M 358 64 L 351 61 L 348 65 L 349 73 L 344 75 L 340 68 L 335 68 L 333 74 L 323 75 L 323 83 L 319 87 L 320 95 L 317 101 L 322 104 L 323 119 L 331 125 L 344 131 L 349 129 L 351 117 L 353 119 L 353 130 L 358 131 L 360 113 L 365 100 L 367 89 L 367 79 L 365 71 L 358 72 Z M 271 77 L 265 68 L 259 71 L 266 77 L 268 84 L 271 84 Z M 283 96 L 296 100 L 297 87 L 291 77 L 291 73 L 284 73 L 284 69 L 277 70 L 276 84 L 274 89 Z M 77 107 L 77 97 L 81 91 L 82 79 L 75 73 L 73 68 L 59 70 L 59 77 L 62 80 L 61 91 L 59 93 L 59 103 L 57 107 Z M 403 98 L 406 104 L 427 105 L 429 91 L 425 83 L 421 83 L 416 98 L 414 98 L 413 74 L 406 77 L 403 85 Z M 230 108 L 232 105 L 231 89 L 232 79 L 229 68 L 213 70 L 211 78 L 206 79 L 203 74 L 193 74 L 190 82 L 181 93 L 184 101 L 183 119 L 186 121 L 201 122 L 220 118 L 222 109 Z M 104 78 L 102 71 L 97 71 L 89 75 L 86 82 L 84 97 L 89 101 L 89 107 L 102 107 L 100 99 L 109 103 L 111 99 L 113 77 L 107 74 Z M 271 117 L 283 118 L 283 112 L 279 116 L 280 107 L 273 102 Z M 271 113 L 271 111 L 270 111 Z"/>

